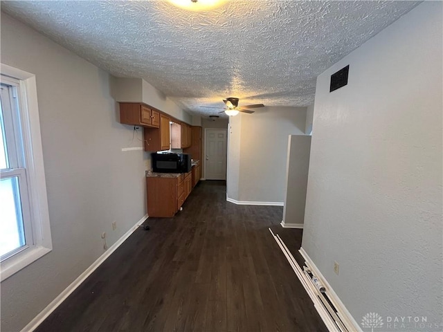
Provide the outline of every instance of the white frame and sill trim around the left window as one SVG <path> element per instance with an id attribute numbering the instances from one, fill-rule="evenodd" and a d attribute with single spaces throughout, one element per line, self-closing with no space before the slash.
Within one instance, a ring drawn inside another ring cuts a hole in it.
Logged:
<path id="1" fill-rule="evenodd" d="M 42 136 L 40 133 L 37 83 L 35 75 L 20 69 L 0 64 L 1 75 L 19 82 L 19 112 L 23 135 L 24 159 L 28 183 L 28 205 L 33 239 L 23 250 L 5 259 L 0 264 L 1 282 L 40 257 L 51 252 L 53 243 L 49 223 L 48 196 L 44 174 Z M 3 81 L 3 80 L 2 80 Z M 5 80 L 7 81 L 7 79 Z"/>

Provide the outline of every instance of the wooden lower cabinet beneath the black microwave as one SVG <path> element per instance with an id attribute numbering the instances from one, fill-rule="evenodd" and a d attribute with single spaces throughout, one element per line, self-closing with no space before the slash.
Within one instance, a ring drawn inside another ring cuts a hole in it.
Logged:
<path id="1" fill-rule="evenodd" d="M 171 218 L 192 191 L 191 172 L 178 177 L 147 177 L 147 215 Z"/>

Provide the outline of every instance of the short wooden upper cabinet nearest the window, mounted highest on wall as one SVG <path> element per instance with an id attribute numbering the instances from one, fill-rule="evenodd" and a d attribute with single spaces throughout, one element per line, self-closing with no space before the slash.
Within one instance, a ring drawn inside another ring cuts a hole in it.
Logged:
<path id="1" fill-rule="evenodd" d="M 120 102 L 120 123 L 159 127 L 159 111 L 139 102 Z"/>

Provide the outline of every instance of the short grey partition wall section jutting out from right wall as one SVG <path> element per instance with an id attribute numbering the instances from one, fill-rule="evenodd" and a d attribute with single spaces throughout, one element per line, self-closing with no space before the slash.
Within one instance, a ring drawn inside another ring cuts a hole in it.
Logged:
<path id="1" fill-rule="evenodd" d="M 282 224 L 300 227 L 305 219 L 311 136 L 289 135 Z"/>

